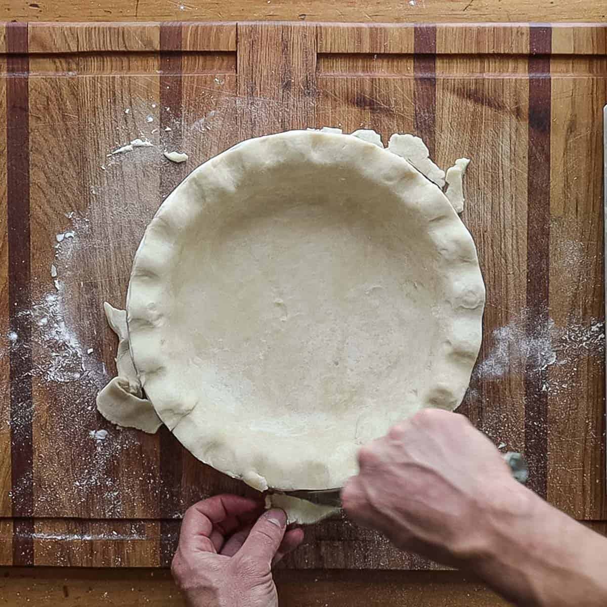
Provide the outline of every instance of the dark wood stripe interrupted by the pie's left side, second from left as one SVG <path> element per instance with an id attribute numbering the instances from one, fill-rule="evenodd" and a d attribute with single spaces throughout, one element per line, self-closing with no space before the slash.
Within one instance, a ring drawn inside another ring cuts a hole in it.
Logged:
<path id="1" fill-rule="evenodd" d="M 181 99 L 181 25 L 160 25 L 160 141 L 164 151 L 183 151 L 183 111 Z M 169 127 L 171 131 L 164 129 Z M 166 198 L 185 177 L 185 163 L 163 163 L 160 169 L 160 197 Z M 183 514 L 181 476 L 183 447 L 171 432 L 160 429 L 160 516 Z M 171 565 L 177 532 L 175 521 L 160 522 L 160 565 Z"/>

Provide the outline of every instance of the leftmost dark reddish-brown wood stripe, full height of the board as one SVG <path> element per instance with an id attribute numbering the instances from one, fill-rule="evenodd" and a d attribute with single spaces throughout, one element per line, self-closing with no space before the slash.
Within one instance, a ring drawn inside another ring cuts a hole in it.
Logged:
<path id="1" fill-rule="evenodd" d="M 30 294 L 29 95 L 27 24 L 6 29 L 7 223 L 13 564 L 33 564 L 32 330 Z"/>

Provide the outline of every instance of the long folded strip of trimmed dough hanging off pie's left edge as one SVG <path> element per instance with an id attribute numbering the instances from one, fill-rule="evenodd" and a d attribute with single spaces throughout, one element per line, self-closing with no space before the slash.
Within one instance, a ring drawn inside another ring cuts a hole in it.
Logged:
<path id="1" fill-rule="evenodd" d="M 112 379 L 97 395 L 97 410 L 112 424 L 154 434 L 162 426 L 162 421 L 152 403 L 143 398 L 143 390 L 129 350 L 126 311 L 118 310 L 107 302 L 104 302 L 103 308 L 107 322 L 118 336 L 115 358 L 118 377 Z"/>

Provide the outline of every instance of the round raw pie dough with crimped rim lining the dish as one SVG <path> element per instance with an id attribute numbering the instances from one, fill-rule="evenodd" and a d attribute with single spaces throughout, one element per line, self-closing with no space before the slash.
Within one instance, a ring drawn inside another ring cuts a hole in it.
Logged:
<path id="1" fill-rule="evenodd" d="M 432 182 L 444 172 L 418 138 L 355 135 L 290 131 L 211 158 L 135 256 L 118 327 L 134 367 L 109 385 L 136 427 L 160 418 L 260 490 L 343 486 L 362 444 L 459 405 L 480 347 L 483 279 Z"/>

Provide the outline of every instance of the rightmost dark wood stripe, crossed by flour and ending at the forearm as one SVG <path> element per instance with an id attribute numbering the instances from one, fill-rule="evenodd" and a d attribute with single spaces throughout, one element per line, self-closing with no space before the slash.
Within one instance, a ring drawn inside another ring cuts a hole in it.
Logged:
<path id="1" fill-rule="evenodd" d="M 527 334 L 548 331 L 550 261 L 550 53 L 552 31 L 530 28 L 529 143 L 527 151 Z M 530 361 L 525 370 L 525 455 L 529 486 L 541 497 L 548 487 L 548 371 Z"/>

